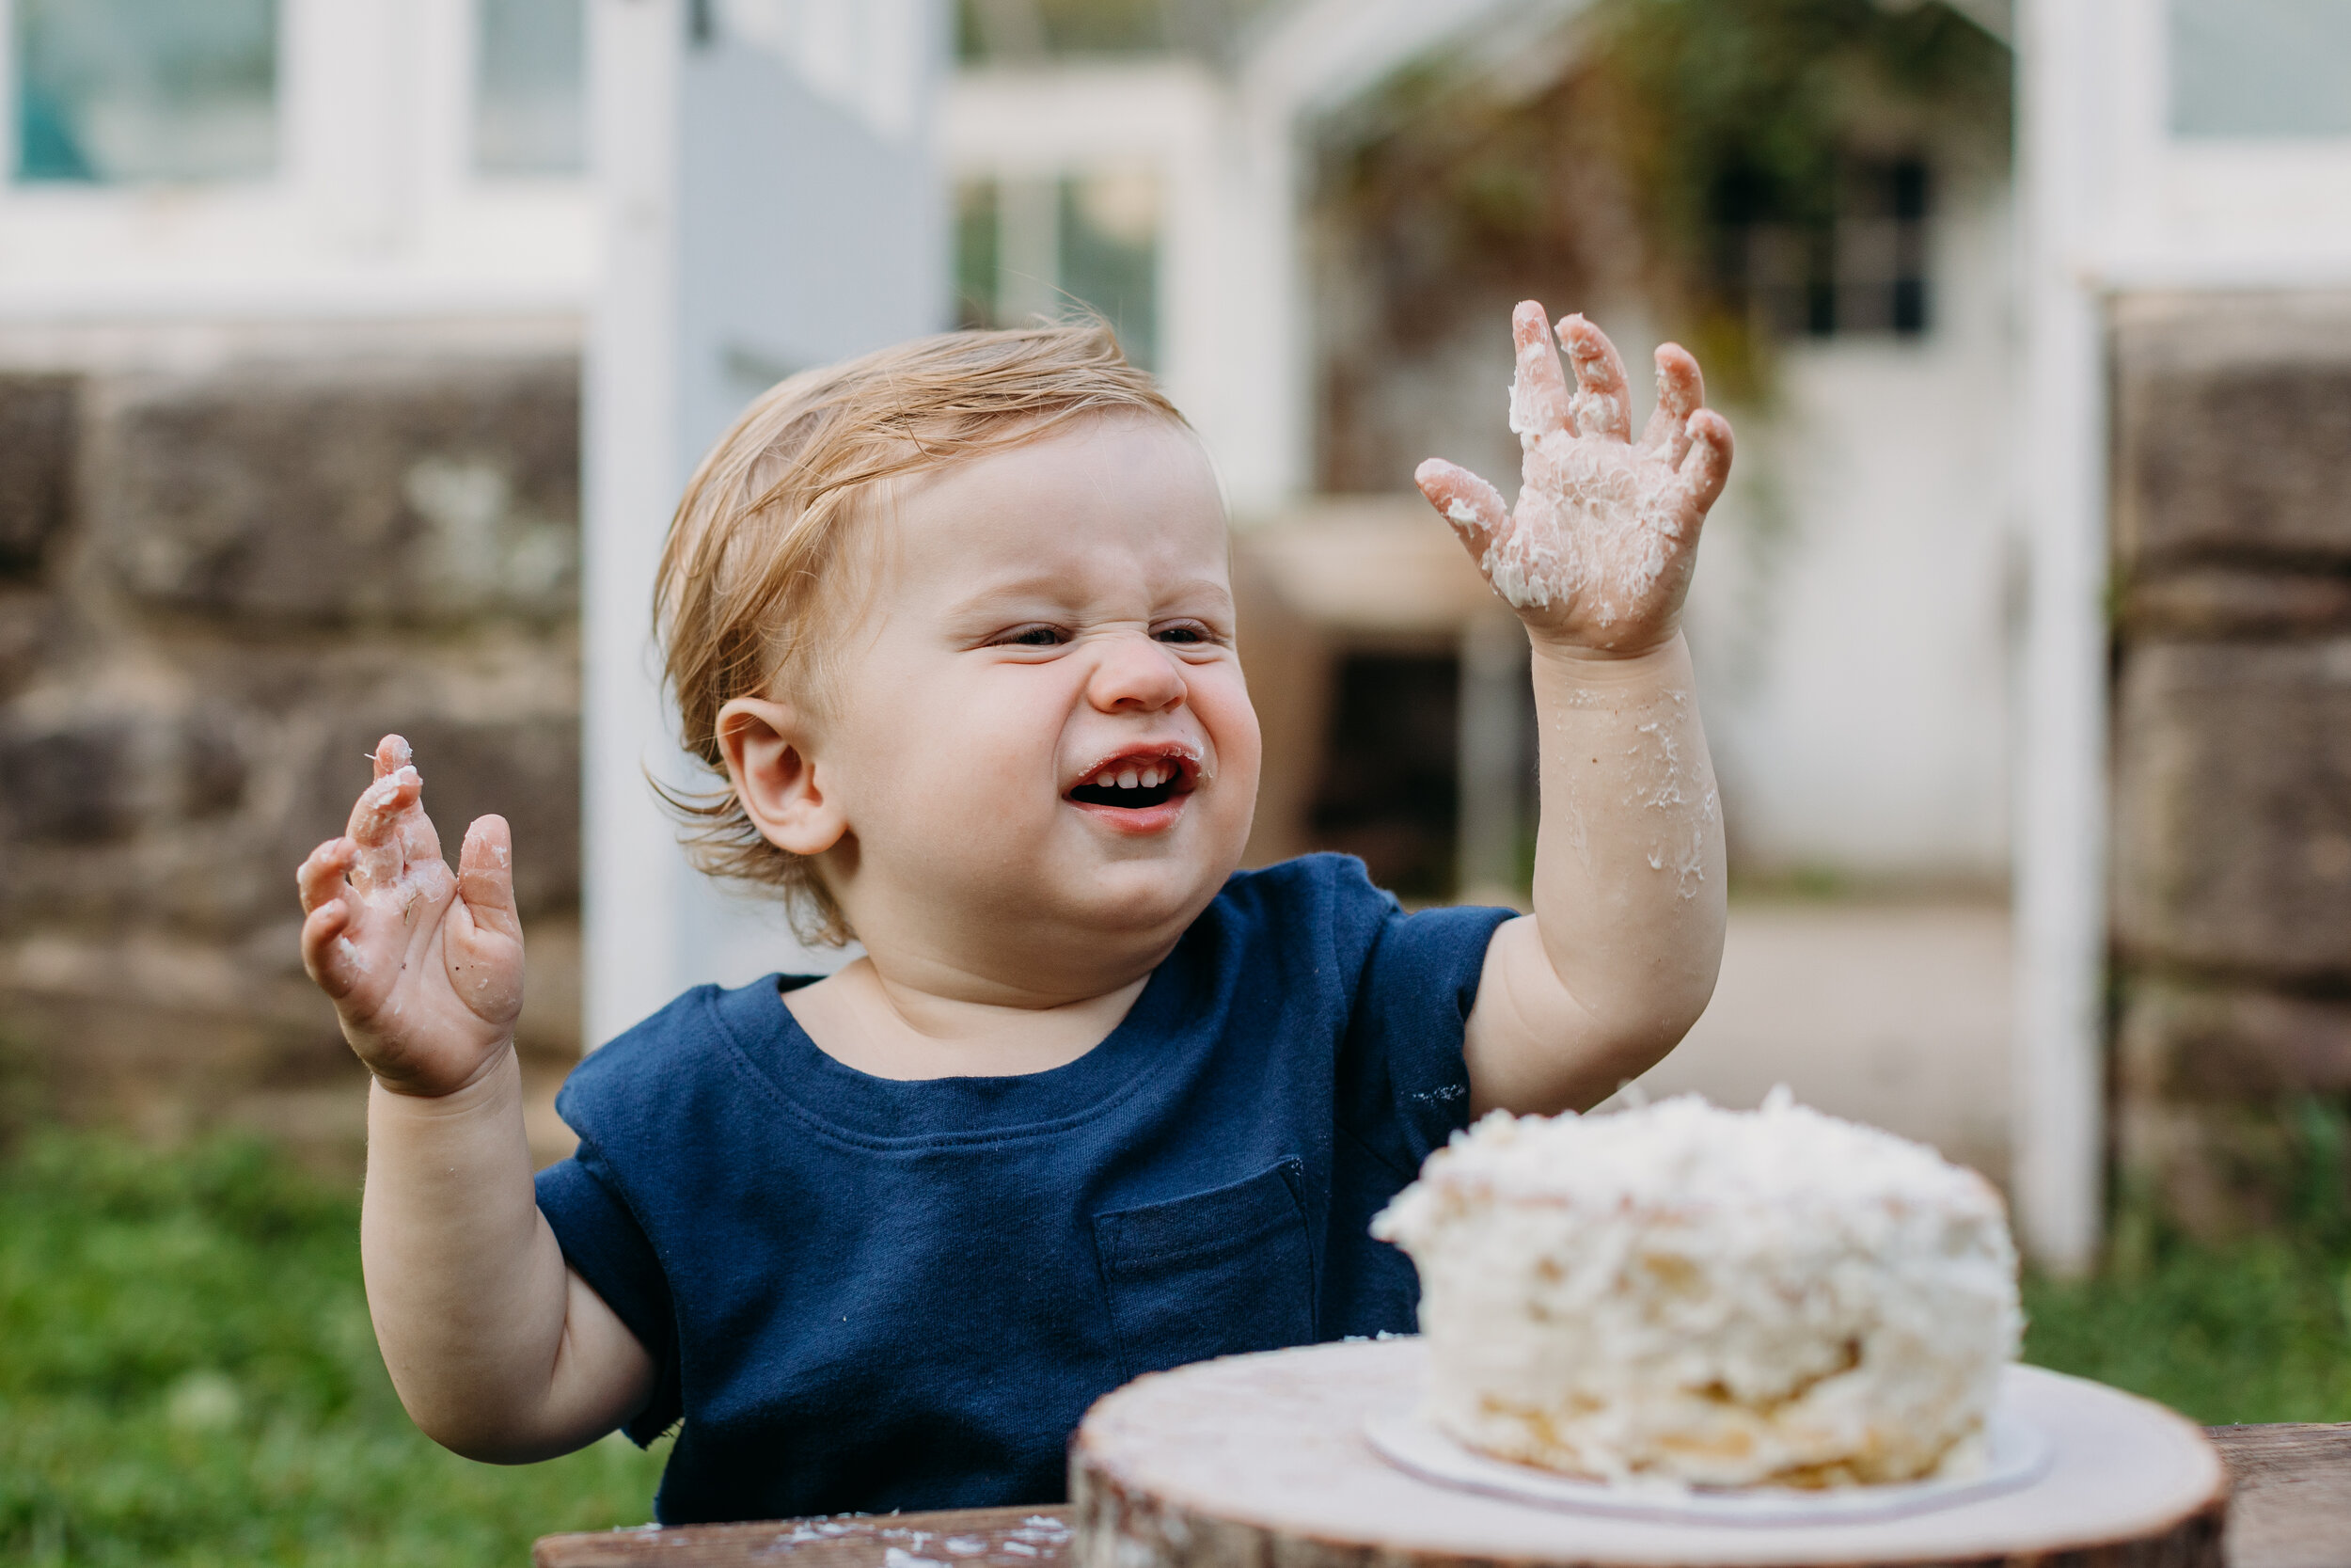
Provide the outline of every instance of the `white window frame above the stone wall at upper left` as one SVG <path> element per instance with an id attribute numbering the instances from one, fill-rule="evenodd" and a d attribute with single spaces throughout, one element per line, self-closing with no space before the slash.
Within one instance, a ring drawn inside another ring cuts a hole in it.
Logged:
<path id="1" fill-rule="evenodd" d="M 578 315 L 592 183 L 473 169 L 475 0 L 280 0 L 277 169 L 24 186 L 0 0 L 0 322 Z"/>

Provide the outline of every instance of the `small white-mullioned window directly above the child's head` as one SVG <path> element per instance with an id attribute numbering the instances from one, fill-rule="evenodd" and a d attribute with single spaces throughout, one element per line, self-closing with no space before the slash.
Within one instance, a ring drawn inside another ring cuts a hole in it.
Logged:
<path id="1" fill-rule="evenodd" d="M 1126 357 L 1159 357 L 1159 179 L 1100 169 L 985 179 L 957 190 L 957 310 L 966 327 L 1013 327 L 1093 308 Z"/>

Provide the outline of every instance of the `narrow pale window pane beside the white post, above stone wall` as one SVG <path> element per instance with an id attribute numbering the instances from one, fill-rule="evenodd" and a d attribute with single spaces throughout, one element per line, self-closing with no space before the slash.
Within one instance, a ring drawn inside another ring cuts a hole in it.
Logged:
<path id="1" fill-rule="evenodd" d="M 475 0 L 473 162 L 482 174 L 588 167 L 581 0 Z"/>

